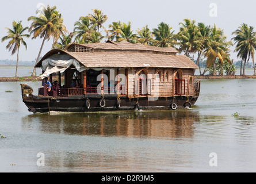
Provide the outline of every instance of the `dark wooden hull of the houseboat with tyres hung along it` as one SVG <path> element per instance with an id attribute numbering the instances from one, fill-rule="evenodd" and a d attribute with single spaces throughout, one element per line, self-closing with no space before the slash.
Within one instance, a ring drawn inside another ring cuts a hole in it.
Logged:
<path id="1" fill-rule="evenodd" d="M 193 96 L 128 98 L 116 94 L 85 94 L 68 97 L 40 96 L 29 93 L 33 91 L 29 86 L 22 87 L 22 98 L 28 110 L 33 113 L 56 112 L 93 112 L 106 110 L 134 110 L 134 109 L 171 109 L 173 102 L 179 107 L 192 106 L 196 103 L 199 92 Z M 175 109 L 175 108 L 173 108 Z"/>

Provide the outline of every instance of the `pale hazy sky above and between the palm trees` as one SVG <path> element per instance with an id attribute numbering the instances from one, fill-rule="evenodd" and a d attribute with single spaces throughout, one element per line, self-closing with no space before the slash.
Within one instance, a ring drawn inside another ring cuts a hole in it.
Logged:
<path id="1" fill-rule="evenodd" d="M 230 41 L 234 32 L 238 27 L 246 23 L 256 27 L 256 1 L 227 1 L 227 0 L 94 0 L 94 1 L 65 1 L 65 0 L 1 0 L 0 6 L 0 38 L 7 35 L 5 28 L 12 28 L 12 22 L 22 21 L 24 27 L 30 26 L 32 21 L 28 21 L 28 17 L 36 16 L 36 10 L 39 5 L 56 6 L 59 13 L 62 14 L 63 23 L 68 32 L 73 32 L 74 22 L 79 20 L 81 16 L 92 14 L 92 9 L 101 9 L 108 16 L 108 20 L 104 26 L 108 28 L 109 24 L 114 21 L 121 21 L 128 24 L 131 21 L 133 33 L 136 30 L 148 25 L 151 30 L 157 28 L 160 22 L 169 24 L 178 33 L 179 23 L 185 18 L 195 20 L 196 23 L 204 22 L 206 25 L 224 29 L 227 34 L 227 41 Z M 255 29 L 256 30 L 256 29 Z M 28 32 L 26 32 L 28 33 Z M 102 30 L 102 34 L 103 30 Z M 19 53 L 20 61 L 35 61 L 39 53 L 43 39 L 25 38 L 28 48 L 21 46 Z M 11 59 L 16 60 L 17 55 L 11 55 L 9 49 L 6 49 L 8 41 L 0 41 L 0 60 Z M 41 56 L 44 56 L 51 50 L 52 39 L 45 42 Z M 234 51 L 235 47 L 231 47 Z M 231 52 L 231 59 L 238 60 L 236 52 Z M 196 56 L 195 56 L 196 57 Z"/>

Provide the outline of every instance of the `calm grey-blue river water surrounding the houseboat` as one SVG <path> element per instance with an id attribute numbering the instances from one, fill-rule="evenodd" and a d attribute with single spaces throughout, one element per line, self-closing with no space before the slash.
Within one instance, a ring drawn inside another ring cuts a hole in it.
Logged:
<path id="1" fill-rule="evenodd" d="M 0 172 L 255 172 L 255 82 L 201 80 L 191 109 L 51 115 L 28 112 L 21 82 L 0 82 Z"/>

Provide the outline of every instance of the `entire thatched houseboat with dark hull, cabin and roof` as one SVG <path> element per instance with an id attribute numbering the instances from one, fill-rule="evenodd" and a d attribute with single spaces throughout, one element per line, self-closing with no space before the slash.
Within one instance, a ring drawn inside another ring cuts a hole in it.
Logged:
<path id="1" fill-rule="evenodd" d="M 197 66 L 177 53 L 172 47 L 109 40 L 52 49 L 35 66 L 51 89 L 42 82 L 33 95 L 32 87 L 21 84 L 22 99 L 33 113 L 190 108 L 200 93 Z"/>

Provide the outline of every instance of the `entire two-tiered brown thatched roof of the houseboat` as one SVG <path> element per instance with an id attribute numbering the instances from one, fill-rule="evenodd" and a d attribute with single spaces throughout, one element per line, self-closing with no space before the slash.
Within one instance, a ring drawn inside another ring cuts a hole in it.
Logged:
<path id="1" fill-rule="evenodd" d="M 72 51 L 72 52 L 71 52 Z M 70 55 L 85 67 L 159 67 L 159 68 L 198 68 L 184 55 L 176 55 L 174 48 L 153 47 L 143 44 L 120 43 L 71 44 L 67 51 L 53 49 L 36 64 L 58 53 Z"/>

